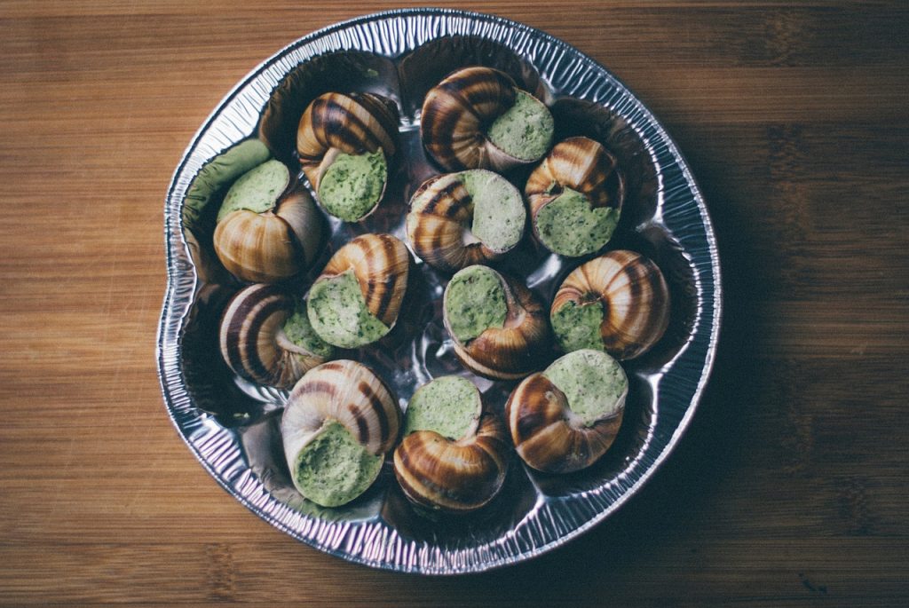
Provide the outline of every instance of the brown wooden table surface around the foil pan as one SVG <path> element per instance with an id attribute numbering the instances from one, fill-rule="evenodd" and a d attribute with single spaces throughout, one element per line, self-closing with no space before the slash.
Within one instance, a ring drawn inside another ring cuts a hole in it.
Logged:
<path id="1" fill-rule="evenodd" d="M 375 572 L 196 463 L 155 366 L 171 175 L 265 57 L 393 6 L 0 2 L 0 603 L 909 603 L 900 2 L 457 3 L 608 66 L 714 219 L 713 379 L 668 463 L 592 532 L 492 573 Z"/>

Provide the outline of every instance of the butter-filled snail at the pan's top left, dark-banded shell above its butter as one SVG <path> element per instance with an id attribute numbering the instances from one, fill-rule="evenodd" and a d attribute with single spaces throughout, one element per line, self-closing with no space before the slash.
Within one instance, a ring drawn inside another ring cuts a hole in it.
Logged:
<path id="1" fill-rule="evenodd" d="M 397 127 L 397 106 L 380 95 L 326 93 L 306 108 L 296 149 L 325 211 L 345 222 L 375 211 L 388 184 Z"/>

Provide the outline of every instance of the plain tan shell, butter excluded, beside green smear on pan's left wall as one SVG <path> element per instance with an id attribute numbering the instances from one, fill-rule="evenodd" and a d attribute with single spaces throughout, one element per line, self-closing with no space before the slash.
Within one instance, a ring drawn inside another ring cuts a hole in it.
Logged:
<path id="1" fill-rule="evenodd" d="M 321 218 L 301 185 L 284 192 L 289 183 L 288 173 L 264 210 L 237 208 L 218 219 L 215 254 L 231 274 L 250 283 L 275 283 L 304 272 L 315 260 L 323 239 Z"/>

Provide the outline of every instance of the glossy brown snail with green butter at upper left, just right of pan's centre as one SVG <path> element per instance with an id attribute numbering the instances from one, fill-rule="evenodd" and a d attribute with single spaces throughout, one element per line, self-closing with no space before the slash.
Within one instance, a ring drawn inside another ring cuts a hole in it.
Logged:
<path id="1" fill-rule="evenodd" d="M 539 369 L 549 350 L 544 304 L 524 284 L 488 266 L 454 274 L 443 295 L 443 321 L 454 354 L 486 378 L 523 378 Z"/>

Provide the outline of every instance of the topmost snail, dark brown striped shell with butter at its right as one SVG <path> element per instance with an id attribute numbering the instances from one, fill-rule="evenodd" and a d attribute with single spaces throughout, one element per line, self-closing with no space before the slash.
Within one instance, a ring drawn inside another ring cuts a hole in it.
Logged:
<path id="1" fill-rule="evenodd" d="M 543 134 L 534 142 L 539 154 L 535 149 L 530 157 L 505 151 L 490 135 L 495 120 L 517 103 L 530 105 L 539 116 L 540 124 L 534 125 Z M 545 105 L 520 91 L 509 75 L 489 67 L 466 67 L 448 75 L 426 94 L 420 120 L 426 150 L 448 171 L 506 171 L 538 160 L 552 141 L 552 115 Z"/>

